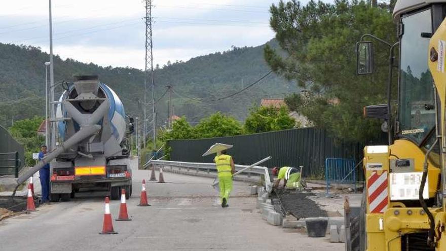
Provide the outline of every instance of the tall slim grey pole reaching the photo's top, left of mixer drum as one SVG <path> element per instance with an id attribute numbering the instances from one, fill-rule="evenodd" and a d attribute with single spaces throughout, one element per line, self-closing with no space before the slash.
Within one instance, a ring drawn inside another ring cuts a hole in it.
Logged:
<path id="1" fill-rule="evenodd" d="M 54 62 L 53 62 L 53 21 L 52 21 L 52 13 L 51 13 L 51 0 L 49 0 L 49 14 L 50 14 L 50 118 L 54 119 L 55 111 L 54 111 Z M 51 128 L 51 147 L 50 151 L 53 151 L 56 148 L 56 127 L 54 126 L 54 122 L 50 119 L 50 128 Z"/>

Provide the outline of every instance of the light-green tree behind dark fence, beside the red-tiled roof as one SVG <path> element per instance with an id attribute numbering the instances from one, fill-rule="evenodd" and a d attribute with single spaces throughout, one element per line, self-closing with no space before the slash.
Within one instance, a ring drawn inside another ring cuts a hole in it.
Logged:
<path id="1" fill-rule="evenodd" d="M 285 106 L 280 109 L 273 106 L 252 107 L 245 121 L 245 132 L 258 133 L 291 129 L 296 126 L 296 121 L 290 118 L 288 113 Z"/>

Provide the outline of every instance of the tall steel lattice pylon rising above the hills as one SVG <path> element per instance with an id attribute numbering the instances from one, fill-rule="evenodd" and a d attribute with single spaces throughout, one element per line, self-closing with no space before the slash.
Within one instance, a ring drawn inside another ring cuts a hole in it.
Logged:
<path id="1" fill-rule="evenodd" d="M 150 66 L 152 83 L 152 113 L 153 113 L 153 140 L 154 148 L 157 148 L 156 120 L 155 120 L 155 84 L 153 69 L 153 43 L 152 43 L 152 0 L 145 0 L 145 70 L 144 70 L 144 148 L 147 128 L 146 91 L 147 91 L 147 68 Z M 150 64 L 150 65 L 149 65 Z"/>

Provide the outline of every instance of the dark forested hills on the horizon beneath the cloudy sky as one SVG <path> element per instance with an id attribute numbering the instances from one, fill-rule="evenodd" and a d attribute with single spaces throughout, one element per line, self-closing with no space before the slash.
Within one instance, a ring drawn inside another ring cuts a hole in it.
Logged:
<path id="1" fill-rule="evenodd" d="M 269 42 L 275 46 L 275 42 Z M 243 89 L 270 70 L 263 58 L 263 47 L 233 47 L 192 58 L 187 62 L 174 62 L 155 70 L 155 95 L 158 99 L 172 85 L 175 114 L 186 116 L 192 123 L 221 111 L 244 120 L 247 110 L 258 104 L 262 97 L 281 97 L 296 91 L 296 85 L 270 75 L 262 82 L 234 97 L 216 99 Z M 113 53 L 113 52 L 110 52 Z M 156 55 L 154 55 L 156 57 Z M 143 57 L 143 55 L 141 55 Z M 13 121 L 44 115 L 45 66 L 49 55 L 39 48 L 0 44 L 0 124 L 11 126 Z M 143 100 L 143 71 L 129 67 L 102 67 L 73 59 L 54 58 L 54 79 L 71 80 L 72 75 L 97 74 L 101 82 L 112 87 L 124 102 L 127 114 L 141 116 L 138 99 Z M 150 83 L 150 81 L 149 81 Z M 60 91 L 58 90 L 60 95 Z M 151 97 L 151 93 L 148 93 Z M 150 98 L 147 101 L 151 101 Z M 167 119 L 168 95 L 157 103 L 157 123 Z"/>

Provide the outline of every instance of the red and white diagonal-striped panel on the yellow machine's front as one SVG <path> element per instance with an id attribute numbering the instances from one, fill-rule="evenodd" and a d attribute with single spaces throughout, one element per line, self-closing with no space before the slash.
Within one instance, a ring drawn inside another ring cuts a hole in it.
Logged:
<path id="1" fill-rule="evenodd" d="M 374 171 L 368 177 L 367 194 L 370 212 L 383 213 L 387 209 L 389 203 L 387 181 L 387 171 L 381 174 Z"/>

